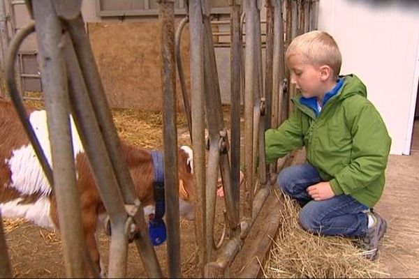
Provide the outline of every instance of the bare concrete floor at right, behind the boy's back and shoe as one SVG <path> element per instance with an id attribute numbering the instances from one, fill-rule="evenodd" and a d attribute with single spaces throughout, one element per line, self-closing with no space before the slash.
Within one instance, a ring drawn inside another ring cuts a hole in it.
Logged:
<path id="1" fill-rule="evenodd" d="M 411 156 L 390 156 L 386 174 L 375 208 L 388 223 L 379 261 L 391 278 L 419 278 L 419 121 Z"/>

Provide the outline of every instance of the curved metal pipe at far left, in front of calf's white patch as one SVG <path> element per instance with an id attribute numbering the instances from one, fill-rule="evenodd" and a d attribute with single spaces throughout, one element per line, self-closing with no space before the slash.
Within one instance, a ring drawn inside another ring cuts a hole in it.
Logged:
<path id="1" fill-rule="evenodd" d="M 34 128 L 31 126 L 31 122 L 27 116 L 27 112 L 24 108 L 24 104 L 20 93 L 17 91 L 16 81 L 15 81 L 15 57 L 17 56 L 17 50 L 19 50 L 20 45 L 27 36 L 35 31 L 35 23 L 29 23 L 26 26 L 22 27 L 17 31 L 16 35 L 10 40 L 10 45 L 8 48 L 8 55 L 6 59 L 6 79 L 7 87 L 10 94 L 10 98 L 15 105 L 17 115 L 19 116 L 20 121 L 22 122 L 23 128 L 27 133 L 29 140 L 34 148 L 36 156 L 41 163 L 41 167 L 45 173 L 45 177 L 50 183 L 51 187 L 54 187 L 54 179 L 52 178 L 52 169 L 50 163 L 48 163 L 45 153 L 41 147 L 41 144 L 36 137 Z"/>

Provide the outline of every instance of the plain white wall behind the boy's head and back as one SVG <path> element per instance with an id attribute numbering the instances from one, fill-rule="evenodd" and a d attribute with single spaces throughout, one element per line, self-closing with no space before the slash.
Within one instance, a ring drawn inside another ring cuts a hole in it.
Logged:
<path id="1" fill-rule="evenodd" d="M 367 85 L 368 98 L 392 137 L 391 152 L 409 153 L 410 112 L 418 89 L 419 1 L 322 0 L 319 29 L 337 40 L 341 73 L 355 73 Z"/>

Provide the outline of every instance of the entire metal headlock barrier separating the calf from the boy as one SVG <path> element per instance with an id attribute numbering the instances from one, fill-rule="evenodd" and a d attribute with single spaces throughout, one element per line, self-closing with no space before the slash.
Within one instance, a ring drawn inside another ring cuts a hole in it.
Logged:
<path id="1" fill-rule="evenodd" d="M 57 198 L 59 227 L 67 277 L 98 276 L 84 241 L 80 197 L 76 187 L 71 142 L 73 116 L 94 173 L 105 209 L 110 216 L 109 277 L 126 276 L 128 241 L 135 241 L 147 276 L 163 277 L 156 252 L 149 241 L 142 205 L 134 195 L 133 181 L 112 114 L 105 98 L 98 68 L 81 16 L 81 0 L 27 0 L 34 19 L 10 40 L 5 74 L 10 98 L 15 104 L 31 144 Z M 175 32 L 173 0 L 157 0 L 161 22 L 163 82 L 163 151 L 168 227 L 168 272 L 181 277 L 177 169 L 175 60 L 181 80 L 191 142 L 196 183 L 196 243 L 200 277 L 230 276 L 229 266 L 249 234 L 267 196 L 277 165 L 265 165 L 267 128 L 277 127 L 292 109 L 293 88 L 287 82 L 284 50 L 294 36 L 316 29 L 318 0 L 265 0 L 265 68 L 262 66 L 260 1 L 229 0 L 231 126 L 223 120 L 219 75 L 207 0 L 186 1 L 187 16 Z M 1 21 L 1 19 L 0 19 Z M 180 61 L 180 36 L 189 22 L 191 89 Z M 245 28 L 245 41 L 242 34 Z M 24 38 L 36 30 L 42 68 L 43 98 L 50 133 L 52 166 L 45 158 L 15 82 L 15 59 Z M 223 36 L 223 34 L 219 34 Z M 244 50 L 243 50 L 244 47 Z M 263 75 L 265 73 L 265 75 Z M 265 76 L 265 81 L 263 77 Z M 244 132 L 240 129 L 240 100 L 244 103 Z M 208 137 L 205 139 L 205 128 Z M 240 145 L 244 145 L 244 210 L 240 211 Z M 226 232 L 216 243 L 214 220 L 216 184 L 221 172 L 226 204 Z M 1 221 L 1 216 L 0 216 Z M 138 231 L 135 236 L 131 232 Z M 10 277 L 10 262 L 0 224 L 0 277 Z"/>

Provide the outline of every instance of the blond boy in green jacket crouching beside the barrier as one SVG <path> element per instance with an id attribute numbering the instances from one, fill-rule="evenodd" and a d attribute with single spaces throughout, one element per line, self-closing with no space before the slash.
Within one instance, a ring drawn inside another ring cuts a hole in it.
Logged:
<path id="1" fill-rule="evenodd" d="M 391 139 L 365 85 L 339 76 L 341 54 L 323 31 L 295 38 L 286 51 L 295 112 L 267 130 L 266 161 L 305 146 L 307 163 L 281 171 L 279 187 L 302 206 L 300 224 L 323 235 L 360 236 L 375 259 L 387 227 L 372 210 L 381 197 Z"/>

